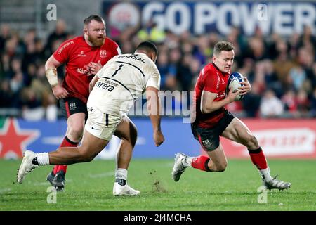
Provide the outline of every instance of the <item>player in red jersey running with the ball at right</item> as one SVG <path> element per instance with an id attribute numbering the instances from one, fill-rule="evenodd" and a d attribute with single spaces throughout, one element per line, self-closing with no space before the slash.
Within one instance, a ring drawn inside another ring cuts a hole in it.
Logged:
<path id="1" fill-rule="evenodd" d="M 239 91 L 233 92 L 230 89 L 225 93 L 234 56 L 234 46 L 228 41 L 220 41 L 214 46 L 213 63 L 206 65 L 200 72 L 195 84 L 191 128 L 207 156 L 189 157 L 177 153 L 172 178 L 178 181 L 187 167 L 208 172 L 223 172 L 227 167 L 219 138 L 223 136 L 248 148 L 251 161 L 258 168 L 266 188 L 287 189 L 291 183 L 270 176 L 263 150 L 246 124 L 224 108 L 228 103 L 235 101 L 238 94 L 244 95 L 251 91 L 251 85 L 245 77 L 244 82 L 241 82 L 244 86 L 240 87 Z"/>

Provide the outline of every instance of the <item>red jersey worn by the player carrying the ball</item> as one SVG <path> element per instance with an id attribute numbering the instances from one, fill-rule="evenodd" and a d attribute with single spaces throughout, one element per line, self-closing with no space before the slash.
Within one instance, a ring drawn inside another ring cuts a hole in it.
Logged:
<path id="1" fill-rule="evenodd" d="M 195 95 L 193 96 L 192 122 L 198 127 L 211 128 L 215 127 L 218 121 L 223 117 L 225 108 L 222 107 L 211 113 L 201 112 L 201 97 L 202 91 L 216 93 L 217 97 L 214 101 L 223 100 L 226 96 L 226 86 L 229 73 L 223 73 L 218 70 L 215 64 L 209 63 L 206 65 L 197 78 L 195 84 Z M 195 114 L 196 113 L 196 114 Z"/>

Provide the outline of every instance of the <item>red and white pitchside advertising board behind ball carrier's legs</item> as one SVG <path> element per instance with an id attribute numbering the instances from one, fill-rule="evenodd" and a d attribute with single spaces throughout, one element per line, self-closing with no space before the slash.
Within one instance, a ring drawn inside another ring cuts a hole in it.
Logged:
<path id="1" fill-rule="evenodd" d="M 316 120 L 242 120 L 268 158 L 316 158 Z M 228 158 L 249 157 L 246 147 L 220 138 Z"/>

